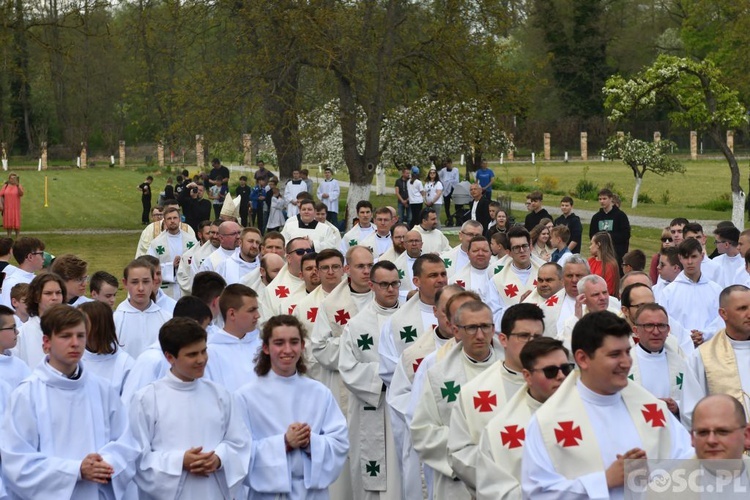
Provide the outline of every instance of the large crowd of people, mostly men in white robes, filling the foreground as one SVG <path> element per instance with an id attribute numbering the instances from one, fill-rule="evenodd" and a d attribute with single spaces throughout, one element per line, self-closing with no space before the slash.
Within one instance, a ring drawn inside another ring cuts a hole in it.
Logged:
<path id="1" fill-rule="evenodd" d="M 571 198 L 516 224 L 478 176 L 451 246 L 453 172 L 344 234 L 331 172 L 256 173 L 273 225 L 178 179 L 121 279 L 0 239 L 0 498 L 623 498 L 644 459 L 750 486 L 750 230 L 710 255 L 674 219 L 649 260 L 602 190 L 585 258 Z"/>

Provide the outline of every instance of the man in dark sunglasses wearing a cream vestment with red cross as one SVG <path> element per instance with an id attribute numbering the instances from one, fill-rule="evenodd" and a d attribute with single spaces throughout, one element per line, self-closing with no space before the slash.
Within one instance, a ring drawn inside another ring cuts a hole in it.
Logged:
<path id="1" fill-rule="evenodd" d="M 573 371 L 568 356 L 562 342 L 551 338 L 528 342 L 521 349 L 526 384 L 492 417 L 479 438 L 477 500 L 520 497 L 526 428 Z"/>

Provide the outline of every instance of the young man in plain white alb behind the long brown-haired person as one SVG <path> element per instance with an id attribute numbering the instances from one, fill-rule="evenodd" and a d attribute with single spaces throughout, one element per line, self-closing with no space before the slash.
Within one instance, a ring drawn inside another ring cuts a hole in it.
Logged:
<path id="1" fill-rule="evenodd" d="M 115 310 L 115 329 L 122 348 L 136 359 L 159 339 L 159 328 L 169 320 L 169 314 L 151 300 L 154 269 L 150 264 L 132 261 L 125 266 L 122 283 L 128 298 Z"/>

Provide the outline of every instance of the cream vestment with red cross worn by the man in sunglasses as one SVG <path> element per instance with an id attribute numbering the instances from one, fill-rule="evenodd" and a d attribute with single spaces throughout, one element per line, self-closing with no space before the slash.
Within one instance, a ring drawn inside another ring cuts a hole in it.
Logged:
<path id="1" fill-rule="evenodd" d="M 482 430 L 477 452 L 477 500 L 521 498 L 526 427 L 542 405 L 524 385 Z"/>

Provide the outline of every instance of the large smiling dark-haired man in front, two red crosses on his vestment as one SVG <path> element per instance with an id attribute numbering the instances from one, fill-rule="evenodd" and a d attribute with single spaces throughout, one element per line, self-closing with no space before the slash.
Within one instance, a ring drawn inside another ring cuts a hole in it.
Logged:
<path id="1" fill-rule="evenodd" d="M 666 403 L 629 383 L 630 333 L 627 321 L 609 311 L 576 324 L 572 346 L 580 375 L 568 376 L 531 418 L 521 466 L 524 497 L 621 499 L 625 460 L 693 454 Z"/>

